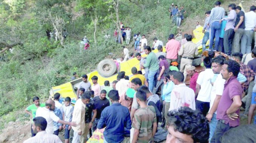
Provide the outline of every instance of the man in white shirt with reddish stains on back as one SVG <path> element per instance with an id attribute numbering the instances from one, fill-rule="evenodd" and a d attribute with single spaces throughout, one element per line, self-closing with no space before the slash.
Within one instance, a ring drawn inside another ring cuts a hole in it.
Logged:
<path id="1" fill-rule="evenodd" d="M 193 110 L 196 110 L 194 90 L 187 87 L 183 82 L 184 75 L 182 72 L 170 72 L 170 78 L 175 86 L 171 91 L 169 111 L 177 110 L 180 107 L 189 107 Z"/>

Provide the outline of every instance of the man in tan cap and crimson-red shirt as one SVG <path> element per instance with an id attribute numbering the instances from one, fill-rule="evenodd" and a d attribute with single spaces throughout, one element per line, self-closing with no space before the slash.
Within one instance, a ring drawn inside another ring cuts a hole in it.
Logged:
<path id="1" fill-rule="evenodd" d="M 188 65 L 186 67 L 187 75 L 189 75 L 191 77 L 189 87 L 194 90 L 194 93 L 196 93 L 196 80 L 199 75 L 198 72 L 195 71 L 195 69 L 196 69 L 196 67 L 191 66 L 191 65 Z"/>

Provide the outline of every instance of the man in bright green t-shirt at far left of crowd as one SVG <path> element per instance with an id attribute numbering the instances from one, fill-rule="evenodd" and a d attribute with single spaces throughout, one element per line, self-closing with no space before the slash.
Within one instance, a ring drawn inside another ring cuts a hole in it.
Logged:
<path id="1" fill-rule="evenodd" d="M 33 98 L 34 104 L 29 105 L 28 108 L 26 108 L 25 112 L 30 115 L 31 119 L 35 117 L 35 113 L 37 111 L 37 108 L 39 107 L 45 107 L 45 103 L 40 103 L 39 97 L 35 96 Z M 31 137 L 34 137 L 35 134 L 33 133 L 32 124 L 31 124 Z"/>

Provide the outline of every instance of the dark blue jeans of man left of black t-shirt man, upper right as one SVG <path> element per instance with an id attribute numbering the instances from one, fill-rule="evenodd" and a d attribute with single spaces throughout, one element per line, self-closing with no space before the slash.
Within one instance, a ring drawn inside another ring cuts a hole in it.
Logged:
<path id="1" fill-rule="evenodd" d="M 225 54 L 230 55 L 232 49 L 232 42 L 234 38 L 234 29 L 228 29 L 224 33 L 224 51 Z"/>

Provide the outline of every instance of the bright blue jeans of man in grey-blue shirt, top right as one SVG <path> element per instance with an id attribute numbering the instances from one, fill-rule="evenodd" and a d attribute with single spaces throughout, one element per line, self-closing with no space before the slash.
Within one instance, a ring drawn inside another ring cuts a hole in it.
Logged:
<path id="1" fill-rule="evenodd" d="M 219 35 L 221 33 L 221 23 L 219 21 L 214 21 L 211 23 L 211 30 L 210 30 L 210 45 L 209 49 L 210 50 L 217 50 L 217 47 L 219 45 Z M 213 42 L 215 38 L 215 45 L 213 48 Z"/>

